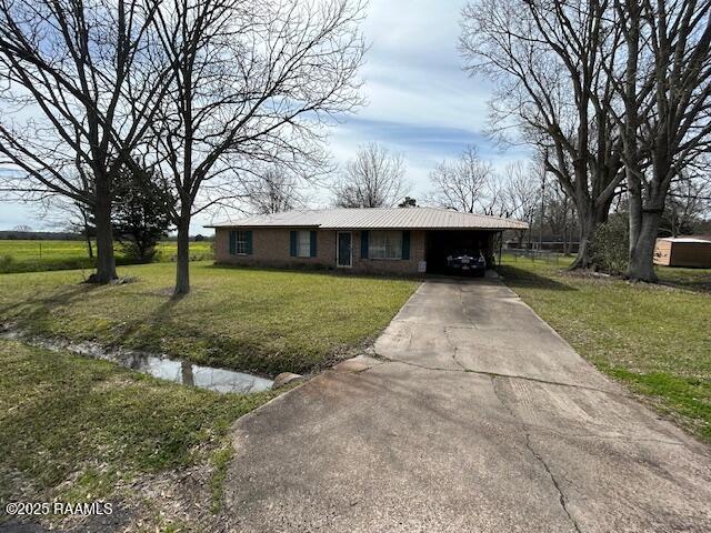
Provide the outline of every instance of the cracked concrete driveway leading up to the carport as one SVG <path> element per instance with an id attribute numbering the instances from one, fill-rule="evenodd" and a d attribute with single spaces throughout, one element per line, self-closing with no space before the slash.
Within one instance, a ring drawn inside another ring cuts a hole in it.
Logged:
<path id="1" fill-rule="evenodd" d="M 709 532 L 711 453 L 495 280 L 427 281 L 375 343 L 240 419 L 240 532 Z"/>

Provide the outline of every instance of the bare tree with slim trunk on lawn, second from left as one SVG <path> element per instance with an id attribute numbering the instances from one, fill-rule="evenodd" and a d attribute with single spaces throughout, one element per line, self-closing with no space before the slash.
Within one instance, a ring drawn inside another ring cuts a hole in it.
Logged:
<path id="1" fill-rule="evenodd" d="M 323 125 L 360 104 L 360 0 L 177 0 L 161 6 L 173 66 L 152 148 L 173 183 L 176 294 L 190 290 L 192 217 L 239 197 L 263 163 L 320 164 Z"/>

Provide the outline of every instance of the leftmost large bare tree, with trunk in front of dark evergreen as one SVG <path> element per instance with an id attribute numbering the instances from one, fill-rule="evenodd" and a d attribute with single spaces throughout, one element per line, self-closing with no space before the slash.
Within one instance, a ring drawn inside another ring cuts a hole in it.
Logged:
<path id="1" fill-rule="evenodd" d="M 0 1 L 0 77 L 9 83 L 0 92 L 0 164 L 13 170 L 2 174 L 3 190 L 86 205 L 99 282 L 116 278 L 113 182 L 166 88 L 168 73 L 152 69 L 158 1 Z"/>

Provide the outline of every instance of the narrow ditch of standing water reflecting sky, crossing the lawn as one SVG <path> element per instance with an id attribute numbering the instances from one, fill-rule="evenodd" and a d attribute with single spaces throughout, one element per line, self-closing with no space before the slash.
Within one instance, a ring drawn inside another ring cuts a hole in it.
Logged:
<path id="1" fill-rule="evenodd" d="M 188 361 L 153 355 L 137 350 L 106 349 L 93 342 L 70 343 L 63 340 L 37 339 L 23 336 L 18 332 L 2 332 L 6 339 L 16 339 L 28 344 L 58 352 L 66 350 L 93 359 L 103 359 L 126 366 L 127 369 L 152 375 L 161 380 L 198 386 L 216 392 L 261 392 L 271 389 L 273 381 L 258 375 L 192 364 Z"/>

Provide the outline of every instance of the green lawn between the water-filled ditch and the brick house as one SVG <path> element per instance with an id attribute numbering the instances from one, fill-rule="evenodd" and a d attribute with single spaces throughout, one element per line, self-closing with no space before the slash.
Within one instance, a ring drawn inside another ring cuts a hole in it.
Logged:
<path id="1" fill-rule="evenodd" d="M 174 300 L 174 264 L 121 266 L 119 274 L 134 281 L 87 285 L 78 271 L 1 275 L 0 322 L 201 364 L 303 373 L 374 336 L 418 285 L 194 262 L 192 292 Z"/>

